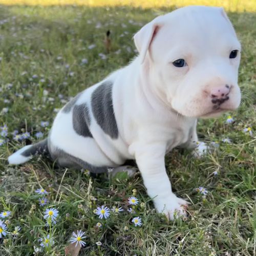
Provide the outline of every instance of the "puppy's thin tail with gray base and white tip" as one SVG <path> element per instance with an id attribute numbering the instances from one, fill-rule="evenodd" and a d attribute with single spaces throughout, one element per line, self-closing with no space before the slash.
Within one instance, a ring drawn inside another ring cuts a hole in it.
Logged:
<path id="1" fill-rule="evenodd" d="M 34 145 L 27 145 L 8 157 L 9 164 L 22 164 L 33 158 L 34 155 L 48 154 L 47 139 L 41 140 Z"/>

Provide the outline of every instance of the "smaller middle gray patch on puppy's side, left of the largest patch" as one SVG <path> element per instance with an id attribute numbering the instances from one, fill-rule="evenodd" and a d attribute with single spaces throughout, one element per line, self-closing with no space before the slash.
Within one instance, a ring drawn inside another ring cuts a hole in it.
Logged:
<path id="1" fill-rule="evenodd" d="M 73 128 L 77 134 L 83 137 L 93 137 L 89 126 L 91 117 L 86 103 L 75 105 L 73 109 Z"/>

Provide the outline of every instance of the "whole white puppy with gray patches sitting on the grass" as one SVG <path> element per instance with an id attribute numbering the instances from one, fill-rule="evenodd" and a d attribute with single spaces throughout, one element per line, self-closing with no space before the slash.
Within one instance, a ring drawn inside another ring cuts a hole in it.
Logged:
<path id="1" fill-rule="evenodd" d="M 130 65 L 78 94 L 57 114 L 48 139 L 23 147 L 10 164 L 47 151 L 60 165 L 94 173 L 135 159 L 155 207 L 185 215 L 164 156 L 196 147 L 197 118 L 240 104 L 240 43 L 222 8 L 190 6 L 159 16 L 134 36 Z"/>

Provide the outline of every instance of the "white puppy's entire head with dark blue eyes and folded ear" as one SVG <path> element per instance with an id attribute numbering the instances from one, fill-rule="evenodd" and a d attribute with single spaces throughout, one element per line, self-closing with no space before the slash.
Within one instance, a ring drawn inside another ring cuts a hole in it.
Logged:
<path id="1" fill-rule="evenodd" d="M 159 16 L 134 36 L 158 97 L 189 117 L 237 109 L 240 42 L 222 8 L 190 6 Z"/>

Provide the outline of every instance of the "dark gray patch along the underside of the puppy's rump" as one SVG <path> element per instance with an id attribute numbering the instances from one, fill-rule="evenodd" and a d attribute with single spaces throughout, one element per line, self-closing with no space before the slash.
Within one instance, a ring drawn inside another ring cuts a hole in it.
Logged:
<path id="1" fill-rule="evenodd" d="M 62 167 L 68 168 L 76 168 L 76 169 L 87 169 L 90 170 L 92 173 L 106 173 L 108 171 L 109 166 L 94 166 L 86 161 L 81 160 L 80 158 L 74 157 L 65 151 L 55 149 L 54 153 L 52 154 L 52 158 L 57 160 L 57 163 Z"/>

